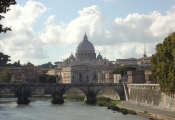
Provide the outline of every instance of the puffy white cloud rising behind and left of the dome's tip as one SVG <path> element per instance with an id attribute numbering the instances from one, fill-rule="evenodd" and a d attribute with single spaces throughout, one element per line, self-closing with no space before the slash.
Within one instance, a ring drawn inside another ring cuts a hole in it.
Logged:
<path id="1" fill-rule="evenodd" d="M 90 36 L 102 32 L 105 16 L 96 5 L 79 10 L 79 17 L 68 24 L 46 24 L 40 39 L 45 44 L 77 44 L 87 32 Z M 51 15 L 47 21 L 53 18 Z M 52 19 L 53 20 L 53 19 Z"/>

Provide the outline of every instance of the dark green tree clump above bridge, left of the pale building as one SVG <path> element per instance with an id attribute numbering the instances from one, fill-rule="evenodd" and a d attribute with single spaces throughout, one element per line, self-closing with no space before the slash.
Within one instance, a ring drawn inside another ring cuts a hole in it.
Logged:
<path id="1" fill-rule="evenodd" d="M 56 83 L 56 77 L 54 75 L 42 74 L 39 76 L 39 83 Z"/>

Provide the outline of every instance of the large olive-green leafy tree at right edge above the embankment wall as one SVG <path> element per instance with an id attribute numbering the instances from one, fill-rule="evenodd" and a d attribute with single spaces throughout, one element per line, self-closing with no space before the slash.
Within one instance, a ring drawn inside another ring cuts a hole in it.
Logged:
<path id="1" fill-rule="evenodd" d="M 167 95 L 175 94 L 175 33 L 156 45 L 156 53 L 151 57 L 152 77 Z"/>

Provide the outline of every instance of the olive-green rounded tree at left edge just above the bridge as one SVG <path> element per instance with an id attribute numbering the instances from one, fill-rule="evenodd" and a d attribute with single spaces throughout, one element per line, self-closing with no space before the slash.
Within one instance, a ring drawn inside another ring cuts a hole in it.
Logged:
<path id="1" fill-rule="evenodd" d="M 0 74 L 1 83 L 9 83 L 11 80 L 12 73 L 9 69 L 5 68 L 4 71 Z"/>

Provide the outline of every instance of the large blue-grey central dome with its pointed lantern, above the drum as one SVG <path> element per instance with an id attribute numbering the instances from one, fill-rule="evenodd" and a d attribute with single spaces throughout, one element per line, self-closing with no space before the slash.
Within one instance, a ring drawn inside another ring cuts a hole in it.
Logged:
<path id="1" fill-rule="evenodd" d="M 84 39 L 79 43 L 77 53 L 95 53 L 94 46 L 91 42 L 88 41 L 86 34 L 84 35 Z"/>

